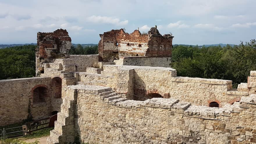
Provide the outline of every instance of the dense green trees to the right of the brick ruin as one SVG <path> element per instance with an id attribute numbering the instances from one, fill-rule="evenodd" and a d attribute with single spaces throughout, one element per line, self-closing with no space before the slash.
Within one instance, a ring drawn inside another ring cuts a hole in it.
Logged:
<path id="1" fill-rule="evenodd" d="M 255 40 L 223 48 L 175 46 L 172 56 L 178 76 L 232 80 L 234 88 L 247 83 L 250 70 L 256 70 Z"/>

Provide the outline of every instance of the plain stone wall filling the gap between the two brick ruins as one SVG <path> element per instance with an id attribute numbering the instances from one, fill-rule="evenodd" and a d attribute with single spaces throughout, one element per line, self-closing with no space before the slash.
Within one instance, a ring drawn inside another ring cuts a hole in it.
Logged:
<path id="1" fill-rule="evenodd" d="M 70 59 L 74 61 L 74 64 L 77 67 L 77 72 L 86 72 L 86 68 L 93 67 L 93 64 L 99 61 L 99 54 L 70 55 Z"/>

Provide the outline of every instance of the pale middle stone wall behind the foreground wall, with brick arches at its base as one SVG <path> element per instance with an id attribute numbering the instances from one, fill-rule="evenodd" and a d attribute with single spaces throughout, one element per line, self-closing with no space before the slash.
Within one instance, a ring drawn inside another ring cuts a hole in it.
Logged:
<path id="1" fill-rule="evenodd" d="M 176 70 L 161 67 L 104 65 L 101 74 L 78 73 L 77 81 L 129 93 L 129 99 L 145 100 L 149 94 L 156 93 L 205 106 L 217 102 L 222 107 L 249 94 L 248 88 L 232 89 L 229 80 L 179 77 Z"/>

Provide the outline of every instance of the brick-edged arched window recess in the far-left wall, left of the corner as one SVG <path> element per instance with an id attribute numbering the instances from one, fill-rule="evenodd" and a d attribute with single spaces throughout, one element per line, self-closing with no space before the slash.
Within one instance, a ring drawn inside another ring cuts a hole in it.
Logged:
<path id="1" fill-rule="evenodd" d="M 47 96 L 47 88 L 38 87 L 33 90 L 33 104 L 44 103 Z"/>

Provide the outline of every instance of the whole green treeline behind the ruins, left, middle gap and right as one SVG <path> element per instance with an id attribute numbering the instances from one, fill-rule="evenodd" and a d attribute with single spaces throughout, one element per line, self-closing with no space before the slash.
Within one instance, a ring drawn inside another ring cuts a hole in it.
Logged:
<path id="1" fill-rule="evenodd" d="M 35 76 L 35 48 L 23 45 L 0 49 L 0 79 Z M 98 45 L 72 45 L 70 54 L 98 54 Z M 247 83 L 251 70 L 256 70 L 256 41 L 240 45 L 184 46 L 173 45 L 172 63 L 177 76 L 226 79 L 233 81 L 233 88 Z"/>

